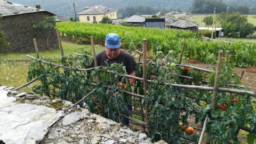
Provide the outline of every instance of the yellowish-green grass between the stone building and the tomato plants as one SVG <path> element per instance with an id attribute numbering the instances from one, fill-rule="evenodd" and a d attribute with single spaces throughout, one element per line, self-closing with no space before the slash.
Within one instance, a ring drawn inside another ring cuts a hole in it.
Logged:
<path id="1" fill-rule="evenodd" d="M 63 52 L 65 55 L 74 55 L 76 47 L 83 47 L 84 45 L 78 45 L 74 43 L 62 42 Z M 13 86 L 18 87 L 27 83 L 28 66 L 30 65 L 30 58 L 26 57 L 26 54 L 36 56 L 35 52 L 30 53 L 0 53 L 0 86 Z M 40 57 L 61 58 L 60 49 L 48 50 L 39 52 Z M 36 81 L 26 87 L 23 87 L 21 91 L 32 91 L 34 85 L 40 84 Z"/>

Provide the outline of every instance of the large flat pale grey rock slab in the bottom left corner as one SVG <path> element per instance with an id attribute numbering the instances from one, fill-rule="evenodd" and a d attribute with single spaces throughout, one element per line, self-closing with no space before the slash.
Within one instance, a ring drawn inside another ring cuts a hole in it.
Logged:
<path id="1" fill-rule="evenodd" d="M 45 106 L 18 103 L 1 108 L 0 115 L 0 140 L 5 143 L 36 143 L 44 138 L 47 128 L 61 113 Z"/>

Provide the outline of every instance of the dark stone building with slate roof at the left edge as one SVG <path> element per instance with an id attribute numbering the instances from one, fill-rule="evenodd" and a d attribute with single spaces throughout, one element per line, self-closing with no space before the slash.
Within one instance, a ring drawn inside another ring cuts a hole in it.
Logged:
<path id="1" fill-rule="evenodd" d="M 6 41 L 11 44 L 9 47 L 0 47 L 1 52 L 35 52 L 34 38 L 39 51 L 59 48 L 55 30 L 46 32 L 33 27 L 46 16 L 55 14 L 9 1 L 0 1 L 0 13 L 1 30 L 6 34 Z"/>

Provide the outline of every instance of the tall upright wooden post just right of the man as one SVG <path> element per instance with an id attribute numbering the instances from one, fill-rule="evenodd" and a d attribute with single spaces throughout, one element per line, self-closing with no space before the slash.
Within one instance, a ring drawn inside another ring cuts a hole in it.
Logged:
<path id="1" fill-rule="evenodd" d="M 143 88 L 144 88 L 144 96 L 147 95 L 147 39 L 142 39 L 143 43 Z M 148 111 L 149 106 L 146 106 L 146 118 L 148 122 Z"/>

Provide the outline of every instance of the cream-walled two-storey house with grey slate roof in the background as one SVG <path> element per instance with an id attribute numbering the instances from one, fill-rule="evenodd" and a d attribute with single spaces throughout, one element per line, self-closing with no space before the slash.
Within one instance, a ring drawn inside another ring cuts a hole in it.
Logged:
<path id="1" fill-rule="evenodd" d="M 116 10 L 101 5 L 86 6 L 83 12 L 78 13 L 78 16 L 80 22 L 90 23 L 99 23 L 103 16 L 117 19 Z"/>

